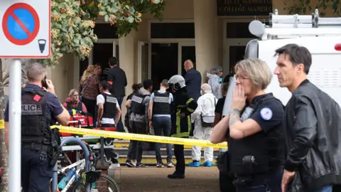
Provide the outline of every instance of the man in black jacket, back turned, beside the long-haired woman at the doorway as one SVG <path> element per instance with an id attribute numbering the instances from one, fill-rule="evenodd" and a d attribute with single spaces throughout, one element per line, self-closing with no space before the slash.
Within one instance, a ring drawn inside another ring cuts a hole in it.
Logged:
<path id="1" fill-rule="evenodd" d="M 110 92 L 117 98 L 117 102 L 119 102 L 119 107 L 121 108 L 123 98 L 126 96 L 126 73 L 124 73 L 124 70 L 119 68 L 117 58 L 115 57 L 109 59 L 109 67 L 110 69 L 107 75 L 107 81 L 110 85 L 112 85 Z M 121 117 L 119 118 L 119 122 L 117 122 L 117 130 L 119 132 L 125 132 Z"/>

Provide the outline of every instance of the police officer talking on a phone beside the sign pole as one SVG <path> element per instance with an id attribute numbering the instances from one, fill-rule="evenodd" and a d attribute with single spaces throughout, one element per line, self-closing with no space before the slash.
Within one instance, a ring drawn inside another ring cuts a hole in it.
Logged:
<path id="1" fill-rule="evenodd" d="M 46 192 L 53 175 L 51 146 L 57 139 L 50 124 L 58 121 L 67 126 L 70 114 L 60 104 L 52 82 L 45 79 L 44 65 L 27 63 L 26 73 L 29 82 L 21 92 L 21 186 L 23 191 Z M 5 122 L 5 140 L 8 144 L 8 103 Z"/>

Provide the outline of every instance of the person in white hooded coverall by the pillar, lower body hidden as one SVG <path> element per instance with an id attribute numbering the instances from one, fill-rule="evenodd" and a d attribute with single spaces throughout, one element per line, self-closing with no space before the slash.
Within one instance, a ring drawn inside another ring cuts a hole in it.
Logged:
<path id="1" fill-rule="evenodd" d="M 206 73 L 208 84 L 211 85 L 212 94 L 219 100 L 222 97 L 222 68 L 216 66 Z"/>

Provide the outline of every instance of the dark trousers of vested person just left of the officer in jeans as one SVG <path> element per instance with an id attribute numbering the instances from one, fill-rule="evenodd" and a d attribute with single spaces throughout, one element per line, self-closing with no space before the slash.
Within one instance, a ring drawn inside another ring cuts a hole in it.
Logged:
<path id="1" fill-rule="evenodd" d="M 145 122 L 133 122 L 131 121 L 131 130 L 134 134 L 147 134 L 146 123 Z M 132 159 L 136 159 L 137 163 L 141 163 L 142 161 L 142 153 L 144 150 L 142 149 L 142 142 L 133 141 L 133 146 L 131 151 L 136 151 Z"/>

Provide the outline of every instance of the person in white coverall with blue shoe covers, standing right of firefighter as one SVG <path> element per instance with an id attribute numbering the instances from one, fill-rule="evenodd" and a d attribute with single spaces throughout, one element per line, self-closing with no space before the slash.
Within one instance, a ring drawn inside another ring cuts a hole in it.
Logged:
<path id="1" fill-rule="evenodd" d="M 215 105 L 217 98 L 212 94 L 211 86 L 207 83 L 201 85 L 201 94 L 197 100 L 197 109 L 191 115 L 191 120 L 194 122 L 194 137 L 193 139 L 210 140 L 215 121 Z M 188 166 L 199 167 L 201 157 L 201 146 L 192 146 L 192 160 Z M 205 162 L 202 166 L 212 166 L 213 147 L 205 147 L 204 152 Z"/>

